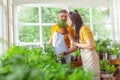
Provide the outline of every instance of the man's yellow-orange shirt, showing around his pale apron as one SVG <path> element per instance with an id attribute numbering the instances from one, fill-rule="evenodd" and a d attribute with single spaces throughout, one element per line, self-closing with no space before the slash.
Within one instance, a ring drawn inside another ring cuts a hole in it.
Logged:
<path id="1" fill-rule="evenodd" d="M 74 30 L 70 26 L 67 26 L 66 28 L 67 28 L 68 32 L 71 34 L 72 38 L 75 39 Z M 51 27 L 51 36 L 53 35 L 55 30 L 56 30 L 56 32 L 60 32 L 60 28 L 56 24 Z M 65 41 L 67 47 L 69 48 L 70 47 L 70 40 L 69 40 L 67 34 L 64 35 L 64 41 Z"/>

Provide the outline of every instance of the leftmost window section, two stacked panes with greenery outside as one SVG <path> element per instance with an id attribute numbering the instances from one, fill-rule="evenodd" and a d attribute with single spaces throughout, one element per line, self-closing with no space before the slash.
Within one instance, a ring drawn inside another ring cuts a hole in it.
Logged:
<path id="1" fill-rule="evenodd" d="M 16 44 L 24 46 L 40 45 L 40 19 L 39 7 L 18 6 L 16 14 Z"/>

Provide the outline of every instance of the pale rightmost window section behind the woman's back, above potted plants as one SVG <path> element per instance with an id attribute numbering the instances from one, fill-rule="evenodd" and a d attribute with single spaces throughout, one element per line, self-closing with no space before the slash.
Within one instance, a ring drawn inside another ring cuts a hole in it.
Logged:
<path id="1" fill-rule="evenodd" d="M 112 39 L 110 9 L 107 7 L 94 7 L 92 8 L 92 16 L 95 36 L 98 36 L 97 38 Z"/>

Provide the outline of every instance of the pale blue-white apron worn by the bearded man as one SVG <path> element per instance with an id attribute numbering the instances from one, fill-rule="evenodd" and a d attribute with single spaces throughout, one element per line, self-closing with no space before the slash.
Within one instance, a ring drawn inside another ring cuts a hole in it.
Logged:
<path id="1" fill-rule="evenodd" d="M 52 45 L 53 45 L 55 54 L 57 56 L 57 60 L 59 60 L 58 55 L 60 53 L 68 50 L 68 47 L 67 47 L 67 45 L 65 44 L 65 41 L 64 41 L 64 35 L 62 35 L 59 32 L 56 32 L 56 31 L 54 31 L 54 33 L 53 33 Z M 65 55 L 64 59 L 65 59 L 66 63 L 69 63 L 71 61 L 69 54 Z"/>

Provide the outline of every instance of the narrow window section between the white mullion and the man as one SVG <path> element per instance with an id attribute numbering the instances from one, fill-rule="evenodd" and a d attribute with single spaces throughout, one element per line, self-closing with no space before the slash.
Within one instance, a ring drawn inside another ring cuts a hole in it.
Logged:
<path id="1" fill-rule="evenodd" d="M 57 22 L 58 11 L 60 8 L 55 7 L 42 7 L 42 36 L 43 42 L 47 42 L 50 37 L 51 25 Z"/>

